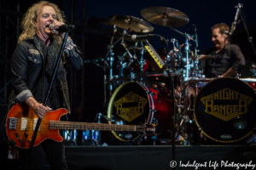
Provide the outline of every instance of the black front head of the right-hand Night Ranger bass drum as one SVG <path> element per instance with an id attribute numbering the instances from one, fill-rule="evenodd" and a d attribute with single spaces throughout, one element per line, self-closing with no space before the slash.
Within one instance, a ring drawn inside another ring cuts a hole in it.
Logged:
<path id="1" fill-rule="evenodd" d="M 218 142 L 244 139 L 256 124 L 256 94 L 246 82 L 232 77 L 213 80 L 195 99 L 195 122 Z"/>

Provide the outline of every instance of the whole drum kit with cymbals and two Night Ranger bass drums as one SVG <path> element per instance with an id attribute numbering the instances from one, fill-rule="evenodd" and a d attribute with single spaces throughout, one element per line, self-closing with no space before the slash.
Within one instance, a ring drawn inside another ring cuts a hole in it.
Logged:
<path id="1" fill-rule="evenodd" d="M 192 136 L 189 123 L 196 124 L 202 134 L 216 142 L 235 143 L 249 137 L 256 124 L 256 79 L 206 78 L 198 65 L 200 61 L 213 57 L 197 54 L 196 28 L 194 36 L 173 28 L 189 23 L 186 14 L 174 8 L 149 7 L 143 8 L 141 15 L 144 20 L 127 15 L 108 18 L 113 24 L 113 34 L 105 34 L 111 37 L 111 42 L 106 58 L 102 59 L 106 68 L 104 79 L 108 120 L 113 120 L 108 122 L 119 125 L 146 122 L 160 126 L 162 134 L 158 138 L 162 139 L 170 139 L 172 128 L 175 127 L 176 133 L 173 135 L 183 144 L 189 144 Z M 179 44 L 175 38 L 166 40 L 160 36 L 167 48 L 154 50 L 147 39 L 159 35 L 142 34 L 154 30 L 150 23 L 166 26 L 182 34 L 184 43 Z M 119 33 L 116 26 L 124 29 L 123 33 Z M 131 35 L 131 32 L 137 32 L 138 35 Z M 126 42 L 135 45 L 129 46 Z M 189 48 L 191 42 L 195 43 L 194 53 Z M 117 43 L 123 46 L 125 53 L 114 52 Z M 173 46 L 170 50 L 168 43 Z M 116 62 L 119 74 L 113 75 L 116 56 L 119 59 Z M 172 76 L 173 82 L 167 81 L 168 75 Z M 169 88 L 171 85 L 174 85 L 174 89 Z M 173 116 L 176 119 L 175 126 L 172 126 Z M 137 141 L 143 137 L 135 132 L 112 133 L 124 142 Z"/>

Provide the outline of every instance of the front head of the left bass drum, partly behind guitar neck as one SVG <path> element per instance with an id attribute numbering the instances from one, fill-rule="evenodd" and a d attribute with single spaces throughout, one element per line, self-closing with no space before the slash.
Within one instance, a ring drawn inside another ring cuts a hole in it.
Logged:
<path id="1" fill-rule="evenodd" d="M 143 85 L 125 82 L 113 93 L 108 105 L 108 118 L 119 125 L 143 125 L 149 119 L 148 94 Z M 112 122 L 109 122 L 112 123 Z M 151 122 L 147 122 L 151 124 Z M 112 131 L 113 135 L 124 142 L 131 142 L 142 135 L 137 132 Z"/>

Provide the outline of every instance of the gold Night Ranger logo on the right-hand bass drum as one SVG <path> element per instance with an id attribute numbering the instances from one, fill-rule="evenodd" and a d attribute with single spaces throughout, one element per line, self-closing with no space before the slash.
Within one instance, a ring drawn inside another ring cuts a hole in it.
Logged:
<path id="1" fill-rule="evenodd" d="M 224 88 L 214 94 L 201 98 L 201 102 L 206 106 L 206 112 L 223 121 L 230 121 L 236 116 L 246 113 L 247 106 L 252 101 L 253 98 L 229 88 Z"/>

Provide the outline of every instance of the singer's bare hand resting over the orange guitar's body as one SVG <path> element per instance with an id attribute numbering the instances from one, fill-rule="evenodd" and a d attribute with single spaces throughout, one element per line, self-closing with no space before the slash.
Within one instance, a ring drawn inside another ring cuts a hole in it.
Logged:
<path id="1" fill-rule="evenodd" d="M 24 99 L 24 103 L 26 105 L 29 105 L 32 108 L 32 110 L 35 112 L 35 114 L 41 119 L 44 118 L 45 114 L 48 111 L 52 111 L 52 109 L 49 108 L 47 105 L 44 106 L 43 104 L 39 104 L 38 101 L 33 97 Z"/>

